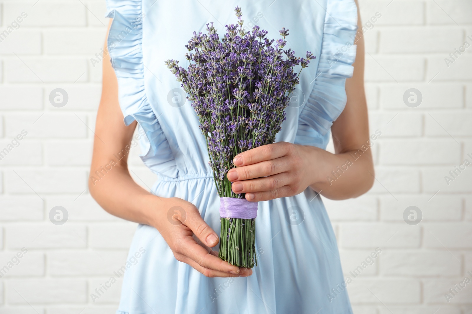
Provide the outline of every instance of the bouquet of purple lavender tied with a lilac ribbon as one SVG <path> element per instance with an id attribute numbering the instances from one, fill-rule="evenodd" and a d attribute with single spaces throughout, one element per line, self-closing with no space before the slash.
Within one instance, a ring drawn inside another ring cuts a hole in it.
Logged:
<path id="1" fill-rule="evenodd" d="M 241 8 L 236 7 L 235 11 L 237 25 L 226 25 L 227 33 L 222 39 L 213 23 L 207 24 L 208 34 L 194 32 L 185 45 L 189 51 L 185 54 L 190 64 L 187 69 L 174 59 L 165 64 L 182 82 L 207 141 L 209 164 L 221 202 L 219 258 L 252 268 L 257 266 L 257 203 L 234 193 L 227 173 L 234 167 L 237 154 L 274 142 L 286 119 L 290 93 L 299 83 L 300 72 L 295 72 L 295 66 L 306 68 L 315 57 L 308 51 L 306 58 L 300 58 L 291 49 L 283 50 L 288 35 L 285 28 L 275 45 L 259 26 L 245 32 Z"/>

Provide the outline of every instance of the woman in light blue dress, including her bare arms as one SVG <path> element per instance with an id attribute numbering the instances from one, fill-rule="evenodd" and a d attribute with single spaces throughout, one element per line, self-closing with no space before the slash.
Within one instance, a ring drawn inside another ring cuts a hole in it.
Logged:
<path id="1" fill-rule="evenodd" d="M 91 173 L 112 168 L 89 186 L 105 210 L 140 224 L 129 251 L 137 262 L 124 276 L 118 314 L 352 313 L 319 194 L 356 197 L 373 183 L 362 36 L 353 45 L 357 6 L 354 0 L 255 2 L 108 0 L 111 62 L 103 62 Z M 317 56 L 303 70 L 297 105 L 287 107 L 276 143 L 236 156 L 237 168 L 228 172 L 235 193 L 259 202 L 253 269 L 218 258 L 219 200 L 205 139 L 164 65 L 183 57 L 192 32 L 205 24 L 224 32 L 236 5 L 249 29 L 257 24 L 275 38 L 284 26 L 290 48 Z M 158 176 L 152 193 L 127 169 L 137 125 L 141 158 Z M 335 154 L 325 151 L 329 129 Z M 362 158 L 354 161 L 354 153 Z"/>

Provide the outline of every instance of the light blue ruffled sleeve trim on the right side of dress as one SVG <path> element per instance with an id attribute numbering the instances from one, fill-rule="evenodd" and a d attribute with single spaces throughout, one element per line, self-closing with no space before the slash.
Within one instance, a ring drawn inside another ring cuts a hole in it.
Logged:
<path id="1" fill-rule="evenodd" d="M 328 0 L 315 83 L 300 112 L 295 143 L 322 146 L 346 106 L 346 78 L 352 77 L 357 32 L 354 0 Z M 322 147 L 324 148 L 324 147 Z"/>

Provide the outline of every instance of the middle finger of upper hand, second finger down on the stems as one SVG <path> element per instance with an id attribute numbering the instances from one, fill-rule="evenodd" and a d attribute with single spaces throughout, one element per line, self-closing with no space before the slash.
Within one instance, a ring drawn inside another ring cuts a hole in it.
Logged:
<path id="1" fill-rule="evenodd" d="M 258 177 L 266 177 L 287 171 L 288 169 L 290 169 L 290 158 L 280 157 L 230 169 L 228 171 L 228 180 L 235 182 Z"/>

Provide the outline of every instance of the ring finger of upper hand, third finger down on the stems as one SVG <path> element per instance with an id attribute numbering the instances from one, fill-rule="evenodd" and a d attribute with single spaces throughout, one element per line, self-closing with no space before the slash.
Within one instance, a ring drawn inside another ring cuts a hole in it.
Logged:
<path id="1" fill-rule="evenodd" d="M 236 181 L 231 185 L 231 189 L 237 194 L 271 191 L 287 185 L 291 179 L 292 178 L 288 172 L 282 172 L 269 177 Z"/>

